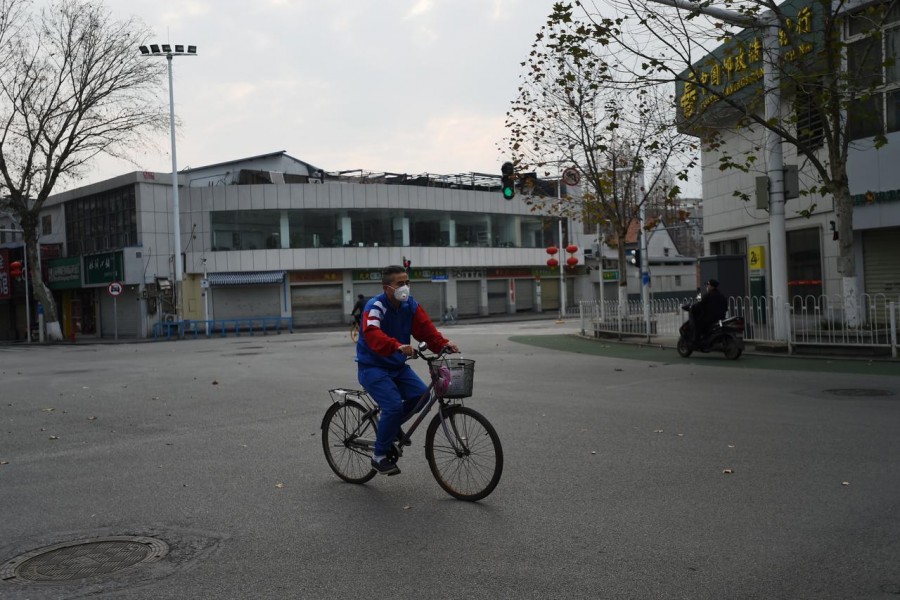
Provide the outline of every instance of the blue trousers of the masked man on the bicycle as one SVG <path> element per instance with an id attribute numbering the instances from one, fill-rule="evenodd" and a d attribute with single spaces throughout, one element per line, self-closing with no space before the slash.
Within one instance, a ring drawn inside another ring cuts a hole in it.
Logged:
<path id="1" fill-rule="evenodd" d="M 375 454 L 387 454 L 391 442 L 400 433 L 400 426 L 412 414 L 419 397 L 428 386 L 409 365 L 398 369 L 382 369 L 359 365 L 359 383 L 381 408 Z"/>

